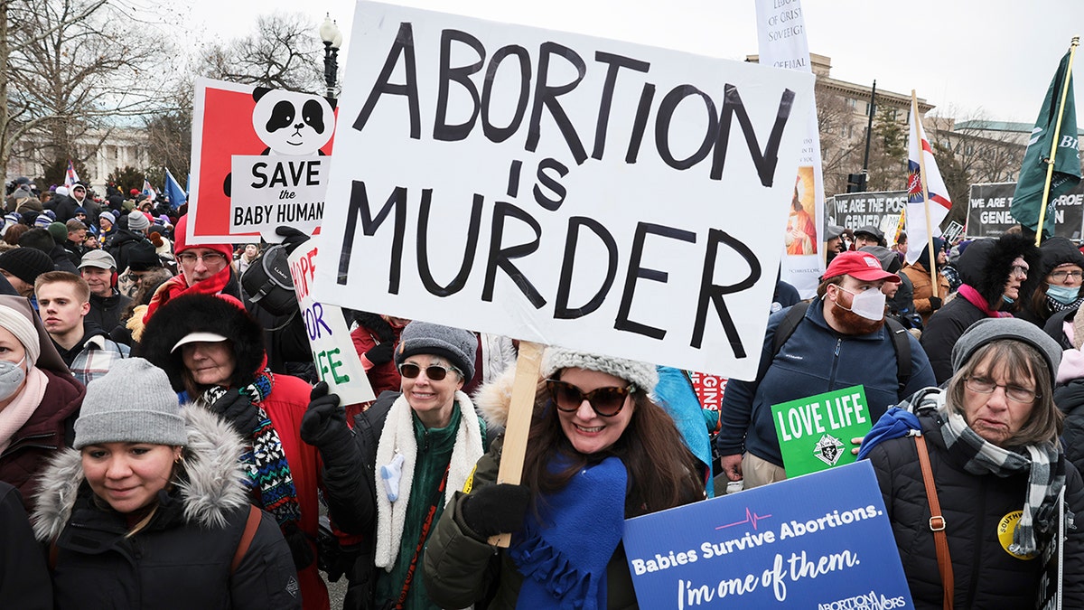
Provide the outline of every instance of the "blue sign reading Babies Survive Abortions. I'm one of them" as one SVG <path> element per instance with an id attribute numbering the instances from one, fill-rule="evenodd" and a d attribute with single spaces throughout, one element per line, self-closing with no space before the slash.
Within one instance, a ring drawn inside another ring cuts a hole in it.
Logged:
<path id="1" fill-rule="evenodd" d="M 641 608 L 913 608 L 868 461 L 625 521 Z"/>

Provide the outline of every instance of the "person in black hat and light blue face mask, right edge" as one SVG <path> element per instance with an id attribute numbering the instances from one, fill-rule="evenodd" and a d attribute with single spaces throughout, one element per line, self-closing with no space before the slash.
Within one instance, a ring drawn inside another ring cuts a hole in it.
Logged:
<path id="1" fill-rule="evenodd" d="M 1076 309 L 1084 302 L 1081 294 L 1084 254 L 1066 238 L 1050 238 L 1038 250 L 1043 253 L 1040 275 L 1043 281 L 1017 317 L 1043 327 L 1054 314 Z"/>

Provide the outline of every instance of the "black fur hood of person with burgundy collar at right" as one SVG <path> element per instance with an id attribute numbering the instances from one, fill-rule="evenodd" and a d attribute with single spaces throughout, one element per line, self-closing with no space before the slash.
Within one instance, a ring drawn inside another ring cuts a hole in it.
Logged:
<path id="1" fill-rule="evenodd" d="M 1020 287 L 1022 301 L 1031 294 L 1043 281 L 1041 269 L 1043 255 L 1035 243 L 1019 233 L 1004 234 L 996 240 L 976 240 L 960 255 L 956 269 L 964 283 L 970 285 L 994 308 L 1002 302 L 1005 293 L 1005 282 L 1008 281 L 1012 262 L 1022 256 L 1032 269 L 1028 279 Z"/>

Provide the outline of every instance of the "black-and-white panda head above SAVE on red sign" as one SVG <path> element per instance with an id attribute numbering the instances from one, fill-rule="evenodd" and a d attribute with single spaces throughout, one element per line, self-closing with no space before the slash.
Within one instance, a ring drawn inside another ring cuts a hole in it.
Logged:
<path id="1" fill-rule="evenodd" d="M 326 99 L 264 88 L 253 98 L 253 128 L 271 154 L 314 154 L 332 139 L 335 112 Z"/>

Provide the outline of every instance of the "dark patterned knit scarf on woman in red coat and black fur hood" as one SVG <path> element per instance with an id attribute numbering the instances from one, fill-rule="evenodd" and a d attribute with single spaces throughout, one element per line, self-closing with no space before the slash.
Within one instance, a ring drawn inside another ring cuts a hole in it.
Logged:
<path id="1" fill-rule="evenodd" d="M 245 447 L 241 461 L 248 473 L 247 487 L 258 490 L 260 505 L 263 510 L 274 516 L 280 528 L 297 524 L 301 519 L 301 508 L 297 501 L 297 488 L 289 473 L 286 454 L 282 448 L 279 432 L 271 425 L 271 419 L 260 403 L 274 386 L 274 377 L 270 371 L 262 371 L 248 385 L 241 387 L 243 395 L 256 405 L 259 421 L 253 430 L 251 444 Z M 214 405 L 228 391 L 227 387 L 214 386 L 204 392 L 203 401 Z"/>

